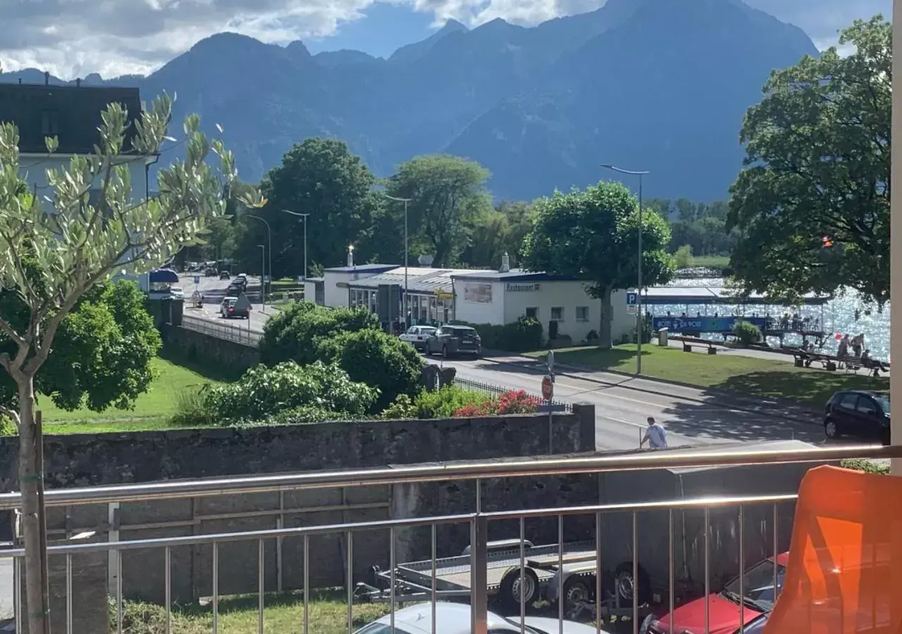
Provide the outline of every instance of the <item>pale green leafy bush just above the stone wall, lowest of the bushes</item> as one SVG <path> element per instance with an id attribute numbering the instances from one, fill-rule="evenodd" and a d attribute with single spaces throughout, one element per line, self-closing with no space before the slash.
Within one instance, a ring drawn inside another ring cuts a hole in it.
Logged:
<path id="1" fill-rule="evenodd" d="M 377 390 L 352 381 L 337 365 L 321 362 L 258 365 L 241 381 L 205 386 L 203 394 L 207 420 L 219 425 L 262 421 L 303 407 L 333 412 L 336 418 L 362 416 L 378 397 Z"/>

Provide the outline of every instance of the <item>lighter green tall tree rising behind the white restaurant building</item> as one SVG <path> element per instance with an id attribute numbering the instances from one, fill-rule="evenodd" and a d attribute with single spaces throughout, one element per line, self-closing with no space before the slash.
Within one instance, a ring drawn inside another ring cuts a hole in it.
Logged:
<path id="1" fill-rule="evenodd" d="M 437 267 L 457 262 L 476 219 L 491 208 L 485 189 L 488 178 L 489 170 L 479 163 L 446 154 L 418 156 L 402 163 L 388 179 L 386 193 L 410 198 L 411 254 L 414 249 L 418 254 L 431 254 Z M 395 203 L 388 208 L 396 218 L 395 226 L 403 227 L 403 205 Z"/>

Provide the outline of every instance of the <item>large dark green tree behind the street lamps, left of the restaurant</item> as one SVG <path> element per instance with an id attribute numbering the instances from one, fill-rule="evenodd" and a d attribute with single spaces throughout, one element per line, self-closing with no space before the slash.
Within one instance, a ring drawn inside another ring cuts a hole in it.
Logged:
<path id="1" fill-rule="evenodd" d="M 269 202 L 254 212 L 272 229 L 272 274 L 293 277 L 304 271 L 304 221 L 284 210 L 309 214 L 308 271 L 313 262 L 344 265 L 349 243 L 354 243 L 357 257 L 365 262 L 367 236 L 377 209 L 371 192 L 374 183 L 373 174 L 344 142 L 312 138 L 295 144 L 281 165 L 263 177 L 260 187 Z M 260 262 L 257 244 L 268 244 L 266 226 L 242 217 L 241 210 L 238 215 L 238 256 L 250 264 Z"/>

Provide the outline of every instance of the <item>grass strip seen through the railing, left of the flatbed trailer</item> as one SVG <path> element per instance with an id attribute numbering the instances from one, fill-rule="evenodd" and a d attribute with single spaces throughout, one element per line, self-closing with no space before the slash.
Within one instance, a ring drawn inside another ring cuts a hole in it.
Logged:
<path id="1" fill-rule="evenodd" d="M 308 623 L 311 634 L 346 634 L 347 603 L 343 593 L 311 593 Z M 303 629 L 303 593 L 266 595 L 263 610 L 263 631 L 267 634 L 300 632 Z M 205 606 L 173 609 L 172 634 L 208 634 L 213 631 L 212 608 Z M 378 619 L 388 612 L 385 603 L 354 605 L 354 629 Z M 115 629 L 115 607 L 111 612 Z M 131 634 L 164 634 L 165 611 L 157 605 L 125 602 L 124 631 Z M 257 597 L 239 597 L 219 601 L 218 626 L 221 634 L 256 634 Z"/>

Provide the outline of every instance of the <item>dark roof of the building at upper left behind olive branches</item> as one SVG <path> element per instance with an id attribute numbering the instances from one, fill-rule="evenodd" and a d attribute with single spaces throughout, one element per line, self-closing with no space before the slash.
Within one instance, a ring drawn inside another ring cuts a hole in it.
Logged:
<path id="1" fill-rule="evenodd" d="M 57 153 L 93 153 L 100 140 L 100 115 L 111 103 L 128 110 L 131 125 L 123 144 L 123 152 L 128 152 L 136 132 L 134 121 L 142 113 L 138 88 L 0 83 L 0 122 L 19 129 L 19 152 L 23 153 L 46 154 L 44 138 L 48 136 L 59 140 Z"/>

